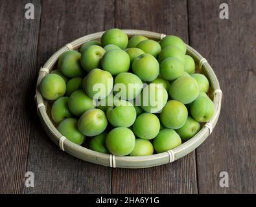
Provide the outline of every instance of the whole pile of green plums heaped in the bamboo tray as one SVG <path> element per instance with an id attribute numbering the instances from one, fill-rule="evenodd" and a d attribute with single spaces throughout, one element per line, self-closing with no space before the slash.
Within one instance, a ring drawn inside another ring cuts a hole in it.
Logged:
<path id="1" fill-rule="evenodd" d="M 215 113 L 209 81 L 186 50 L 177 36 L 128 39 L 113 28 L 64 52 L 40 91 L 71 142 L 118 156 L 161 153 L 191 139 Z"/>

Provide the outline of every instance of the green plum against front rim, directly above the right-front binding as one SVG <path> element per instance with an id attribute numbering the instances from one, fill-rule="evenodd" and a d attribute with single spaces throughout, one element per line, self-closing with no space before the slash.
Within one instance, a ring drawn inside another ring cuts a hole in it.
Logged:
<path id="1" fill-rule="evenodd" d="M 181 138 L 173 129 L 163 129 L 153 140 L 153 146 L 157 153 L 163 153 L 180 145 Z"/>

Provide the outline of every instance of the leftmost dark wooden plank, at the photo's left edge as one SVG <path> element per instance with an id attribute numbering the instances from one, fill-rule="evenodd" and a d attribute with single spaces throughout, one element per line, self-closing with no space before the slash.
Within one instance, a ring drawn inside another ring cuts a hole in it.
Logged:
<path id="1" fill-rule="evenodd" d="M 27 1 L 0 6 L 0 193 L 22 193 L 33 123 L 34 77 L 40 1 L 30 1 L 35 19 L 25 19 Z"/>

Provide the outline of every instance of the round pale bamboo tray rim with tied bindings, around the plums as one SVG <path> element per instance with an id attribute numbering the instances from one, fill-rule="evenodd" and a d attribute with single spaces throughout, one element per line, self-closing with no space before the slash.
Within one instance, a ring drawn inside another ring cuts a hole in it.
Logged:
<path id="1" fill-rule="evenodd" d="M 156 32 L 148 32 L 143 30 L 124 30 L 126 34 L 131 37 L 134 35 L 146 36 L 150 39 L 155 39 L 159 41 L 165 37 L 165 34 L 159 34 Z M 78 146 L 73 142 L 67 140 L 64 136 L 62 136 L 54 124 L 51 121 L 51 104 L 45 100 L 40 93 L 40 83 L 42 78 L 47 75 L 56 62 L 58 61 L 59 56 L 67 51 L 67 50 L 77 50 L 83 43 L 91 40 L 100 40 L 104 32 L 97 32 L 94 34 L 89 34 L 82 38 L 76 39 L 71 43 L 68 43 L 57 52 L 55 52 L 49 60 L 41 67 L 38 81 L 36 84 L 36 105 L 38 109 L 38 115 L 40 116 L 41 123 L 47 135 L 51 138 L 51 140 L 60 147 L 63 151 L 66 151 L 70 155 L 73 155 L 82 160 L 93 162 L 95 164 L 100 164 L 103 166 L 110 166 L 113 168 L 149 168 L 153 166 L 159 166 L 161 164 L 167 164 L 169 162 L 173 162 L 174 160 L 178 160 L 179 158 L 191 153 L 196 147 L 200 146 L 202 142 L 207 138 L 207 136 L 211 135 L 213 128 L 218 121 L 218 117 L 220 115 L 221 101 L 222 101 L 222 91 L 220 90 L 220 85 L 218 83 L 218 79 L 216 78 L 215 72 L 211 68 L 211 65 L 207 63 L 207 60 L 203 58 L 196 50 L 192 49 L 189 45 L 187 45 L 187 54 L 192 56 L 196 62 L 196 67 L 200 70 L 205 76 L 207 76 L 211 90 L 209 92 L 209 96 L 213 98 L 213 102 L 215 104 L 215 114 L 209 122 L 207 122 L 202 129 L 190 140 L 181 144 L 174 149 L 166 151 L 164 153 L 159 153 L 156 155 L 148 155 L 142 157 L 118 157 L 115 155 L 108 155 L 103 153 L 98 153 L 96 151 L 92 151 L 87 149 L 86 147 Z"/>

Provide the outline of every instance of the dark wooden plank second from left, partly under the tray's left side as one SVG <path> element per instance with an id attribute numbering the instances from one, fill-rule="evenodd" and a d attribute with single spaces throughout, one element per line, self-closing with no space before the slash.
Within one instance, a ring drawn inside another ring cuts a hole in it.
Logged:
<path id="1" fill-rule="evenodd" d="M 114 1 L 43 1 L 38 65 L 76 38 L 114 25 Z M 110 193 L 111 168 L 98 166 L 60 151 L 34 115 L 36 130 L 30 136 L 28 171 L 35 187 L 26 193 Z"/>

